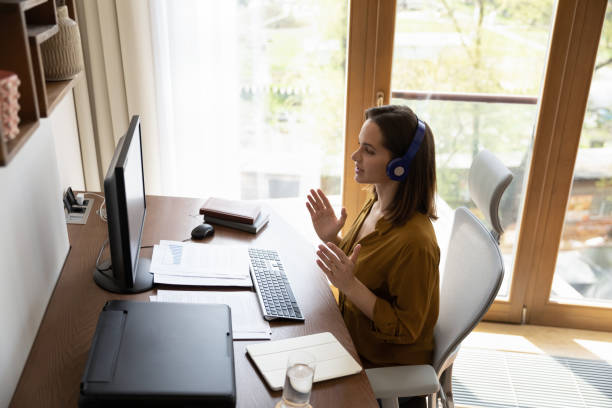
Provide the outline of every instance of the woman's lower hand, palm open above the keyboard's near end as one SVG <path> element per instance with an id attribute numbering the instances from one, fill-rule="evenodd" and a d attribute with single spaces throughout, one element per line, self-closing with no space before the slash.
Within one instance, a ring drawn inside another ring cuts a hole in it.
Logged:
<path id="1" fill-rule="evenodd" d="M 319 245 L 317 265 L 327 275 L 332 285 L 341 292 L 351 292 L 357 283 L 357 279 L 355 279 L 355 264 L 357 263 L 360 250 L 361 245 L 357 244 L 351 256 L 346 256 L 333 242 L 328 242 L 327 246 Z"/>

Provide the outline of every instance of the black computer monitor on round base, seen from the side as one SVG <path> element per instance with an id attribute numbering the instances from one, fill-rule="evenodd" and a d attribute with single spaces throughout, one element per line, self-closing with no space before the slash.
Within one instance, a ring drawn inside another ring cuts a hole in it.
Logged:
<path id="1" fill-rule="evenodd" d="M 110 261 L 98 264 L 95 282 L 116 293 L 138 293 L 153 287 L 151 260 L 140 256 L 147 213 L 142 168 L 140 118 L 132 117 L 104 178 Z M 102 251 L 100 251 L 102 254 Z"/>

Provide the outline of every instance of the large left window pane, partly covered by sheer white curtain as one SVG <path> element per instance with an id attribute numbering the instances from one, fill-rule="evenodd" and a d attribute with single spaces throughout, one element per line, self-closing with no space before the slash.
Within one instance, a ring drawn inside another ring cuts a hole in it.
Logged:
<path id="1" fill-rule="evenodd" d="M 346 0 L 153 1 L 163 192 L 339 195 L 347 10 Z"/>

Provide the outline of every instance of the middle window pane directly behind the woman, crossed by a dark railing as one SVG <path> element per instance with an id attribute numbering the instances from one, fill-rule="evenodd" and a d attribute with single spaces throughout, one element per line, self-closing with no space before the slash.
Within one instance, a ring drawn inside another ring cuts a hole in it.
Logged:
<path id="1" fill-rule="evenodd" d="M 393 102 L 433 129 L 438 193 L 470 201 L 467 174 L 483 148 L 512 170 L 502 204 L 507 297 L 554 7 L 552 0 L 398 0 Z"/>

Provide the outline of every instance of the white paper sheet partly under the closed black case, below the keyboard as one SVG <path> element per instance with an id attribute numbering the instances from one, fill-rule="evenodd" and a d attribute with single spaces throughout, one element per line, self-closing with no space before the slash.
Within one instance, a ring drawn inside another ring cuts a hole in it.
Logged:
<path id="1" fill-rule="evenodd" d="M 270 324 L 263 318 L 257 295 L 251 291 L 211 292 L 158 290 L 151 302 L 220 303 L 232 309 L 234 340 L 270 339 Z"/>

